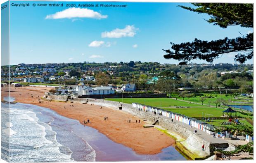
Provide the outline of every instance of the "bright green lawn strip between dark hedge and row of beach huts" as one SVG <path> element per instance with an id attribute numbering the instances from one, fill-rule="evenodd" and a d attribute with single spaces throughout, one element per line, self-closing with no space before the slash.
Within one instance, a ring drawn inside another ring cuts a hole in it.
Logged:
<path id="1" fill-rule="evenodd" d="M 169 106 L 202 106 L 199 104 L 188 103 L 184 101 L 178 101 L 170 98 L 124 98 L 124 99 L 106 99 L 109 101 L 117 101 L 117 102 L 124 102 L 124 103 L 141 103 L 148 106 L 154 107 L 169 107 Z"/>

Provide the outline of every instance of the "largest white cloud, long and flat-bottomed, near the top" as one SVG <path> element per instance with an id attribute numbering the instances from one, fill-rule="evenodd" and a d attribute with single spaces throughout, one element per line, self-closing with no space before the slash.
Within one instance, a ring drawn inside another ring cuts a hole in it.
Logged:
<path id="1" fill-rule="evenodd" d="M 68 8 L 55 14 L 47 15 L 45 19 L 60 19 L 60 18 L 95 18 L 102 19 L 107 18 L 107 15 L 102 15 L 92 9 L 87 8 Z"/>

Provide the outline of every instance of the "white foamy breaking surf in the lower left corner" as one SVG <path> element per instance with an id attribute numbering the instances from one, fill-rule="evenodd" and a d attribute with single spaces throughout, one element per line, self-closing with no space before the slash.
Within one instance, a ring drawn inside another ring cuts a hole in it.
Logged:
<path id="1" fill-rule="evenodd" d="M 28 110 L 21 110 L 22 105 L 12 104 L 10 108 L 10 123 L 16 134 L 10 135 L 10 161 L 11 162 L 71 162 L 72 152 L 63 147 L 56 140 L 56 133 L 47 124 L 39 121 L 36 113 Z M 21 109 L 18 109 L 21 108 Z M 46 127 L 47 128 L 46 128 Z M 54 135 L 47 139 L 50 132 Z M 11 132 L 10 132 L 11 133 Z M 60 152 L 60 148 L 69 151 L 68 154 Z"/>

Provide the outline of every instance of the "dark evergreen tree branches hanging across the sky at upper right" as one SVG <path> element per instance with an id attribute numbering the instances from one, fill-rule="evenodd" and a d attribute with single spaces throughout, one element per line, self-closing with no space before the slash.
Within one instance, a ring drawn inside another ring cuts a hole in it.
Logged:
<path id="1" fill-rule="evenodd" d="M 197 12 L 199 14 L 209 14 L 211 17 L 206 20 L 213 25 L 227 28 L 232 25 L 240 25 L 245 28 L 253 28 L 253 4 L 234 3 L 192 3 L 197 8 L 179 6 L 183 9 Z M 171 50 L 164 50 L 167 54 L 165 59 L 175 59 L 182 61 L 179 64 L 200 59 L 213 62 L 222 54 L 239 52 L 235 55 L 235 62 L 244 63 L 253 57 L 253 33 L 229 39 L 218 39 L 215 41 L 202 41 L 194 39 L 192 42 L 174 44 L 171 42 Z"/>

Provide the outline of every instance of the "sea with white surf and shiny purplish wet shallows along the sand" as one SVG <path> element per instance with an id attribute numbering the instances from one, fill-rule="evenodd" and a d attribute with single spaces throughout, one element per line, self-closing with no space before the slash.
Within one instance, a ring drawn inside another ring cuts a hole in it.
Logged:
<path id="1" fill-rule="evenodd" d="M 10 162 L 186 160 L 173 146 L 159 154 L 136 154 L 96 129 L 48 108 L 1 103 L 1 112 L 1 157 Z"/>

